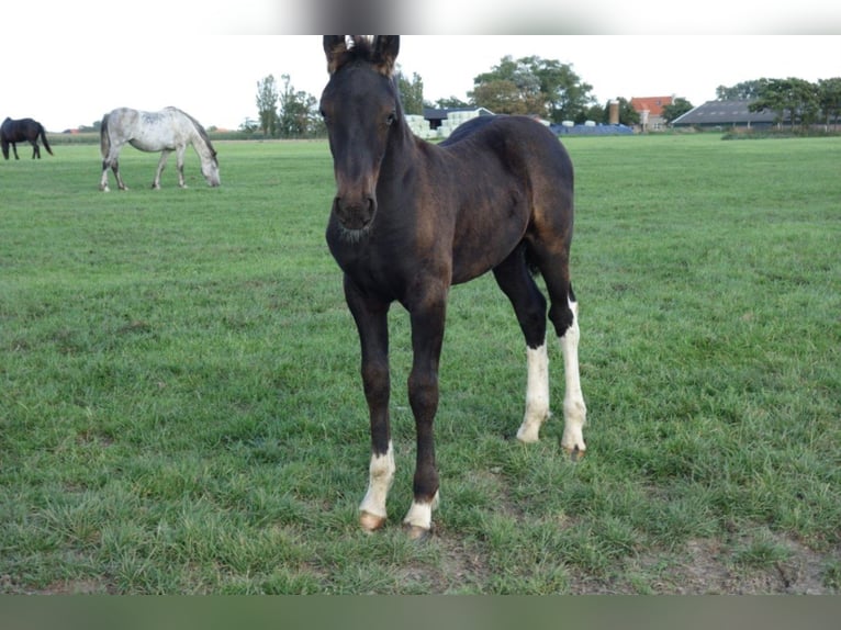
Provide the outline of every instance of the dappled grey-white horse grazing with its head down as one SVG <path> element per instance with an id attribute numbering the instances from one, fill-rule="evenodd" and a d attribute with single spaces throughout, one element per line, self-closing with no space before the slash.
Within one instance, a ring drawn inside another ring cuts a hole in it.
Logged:
<path id="1" fill-rule="evenodd" d="M 195 149 L 202 162 L 202 175 L 210 185 L 220 184 L 216 149 L 199 121 L 177 108 L 165 108 L 159 112 L 143 112 L 117 108 L 102 116 L 100 149 L 102 151 L 102 179 L 99 189 L 108 192 L 108 169 L 114 171 L 120 190 L 128 190 L 120 176 L 117 157 L 123 145 L 128 143 L 142 151 L 161 151 L 158 169 L 152 188 L 160 188 L 160 173 L 167 166 L 169 154 L 176 151 L 178 185 L 184 183 L 184 150 L 189 145 Z"/>

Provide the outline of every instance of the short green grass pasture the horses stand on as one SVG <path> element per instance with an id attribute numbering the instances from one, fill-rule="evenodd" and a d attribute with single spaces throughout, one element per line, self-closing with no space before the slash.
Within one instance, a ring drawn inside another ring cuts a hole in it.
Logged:
<path id="1" fill-rule="evenodd" d="M 0 592 L 837 593 L 841 140 L 571 138 L 587 457 L 512 440 L 525 348 L 492 278 L 453 290 L 441 507 L 406 540 L 414 424 L 357 525 L 359 348 L 324 243 L 325 143 L 220 143 L 101 193 L 93 145 L 0 162 Z M 24 151 L 25 153 L 25 151 Z"/>

